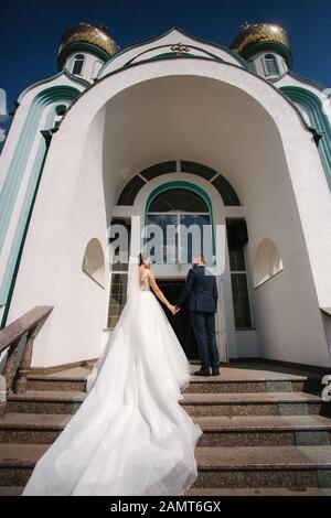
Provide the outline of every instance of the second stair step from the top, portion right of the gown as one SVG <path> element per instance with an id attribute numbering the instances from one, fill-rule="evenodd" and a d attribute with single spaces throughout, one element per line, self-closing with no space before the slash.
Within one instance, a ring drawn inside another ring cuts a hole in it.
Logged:
<path id="1" fill-rule="evenodd" d="M 306 392 L 184 393 L 181 404 L 190 416 L 330 414 L 320 396 Z"/>

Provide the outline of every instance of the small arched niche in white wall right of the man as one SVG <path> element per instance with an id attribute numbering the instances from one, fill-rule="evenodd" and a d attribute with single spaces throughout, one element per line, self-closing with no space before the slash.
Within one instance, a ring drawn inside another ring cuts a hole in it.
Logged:
<path id="1" fill-rule="evenodd" d="M 266 282 L 284 269 L 279 251 L 271 239 L 264 239 L 256 251 L 254 261 L 254 288 Z"/>

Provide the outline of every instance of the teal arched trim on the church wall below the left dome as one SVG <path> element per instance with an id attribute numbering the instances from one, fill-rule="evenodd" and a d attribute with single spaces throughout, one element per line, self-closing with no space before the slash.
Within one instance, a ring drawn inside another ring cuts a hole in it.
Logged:
<path id="1" fill-rule="evenodd" d="M 33 143 L 35 140 L 39 140 L 39 144 L 33 166 L 30 172 L 26 191 L 24 193 L 24 199 L 20 207 L 20 215 L 6 266 L 6 274 L 1 280 L 1 304 L 8 303 L 9 289 L 12 283 L 12 276 L 18 260 L 22 237 L 24 235 L 36 183 L 39 181 L 41 168 L 43 165 L 46 153 L 45 139 L 40 131 L 42 129 L 50 129 L 52 126 L 54 126 L 54 120 L 56 117 L 55 109 L 58 102 L 68 106 L 77 96 L 79 96 L 79 90 L 70 86 L 53 86 L 38 94 L 30 107 L 29 114 L 23 125 L 23 129 L 18 138 L 17 149 L 0 193 L 0 249 L 3 247 L 15 199 L 25 174 L 25 169 Z M 45 125 L 43 125 L 41 128 L 40 123 L 44 109 L 51 104 L 54 104 L 54 106 L 47 115 Z"/>

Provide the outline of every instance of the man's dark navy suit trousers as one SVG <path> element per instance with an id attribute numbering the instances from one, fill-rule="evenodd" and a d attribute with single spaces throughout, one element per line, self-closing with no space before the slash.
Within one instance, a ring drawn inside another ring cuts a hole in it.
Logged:
<path id="1" fill-rule="evenodd" d="M 216 346 L 215 313 L 206 311 L 190 311 L 190 320 L 197 343 L 202 369 L 220 368 L 220 357 Z"/>

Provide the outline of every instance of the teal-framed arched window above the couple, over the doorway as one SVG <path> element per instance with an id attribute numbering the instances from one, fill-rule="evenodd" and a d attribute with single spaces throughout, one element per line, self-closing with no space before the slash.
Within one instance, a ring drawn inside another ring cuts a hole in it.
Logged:
<path id="1" fill-rule="evenodd" d="M 145 249 L 153 262 L 192 262 L 203 252 L 213 263 L 213 228 L 209 205 L 190 188 L 167 188 L 152 198 L 147 215 Z"/>

